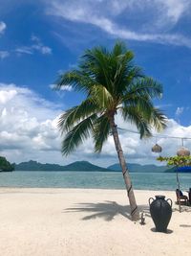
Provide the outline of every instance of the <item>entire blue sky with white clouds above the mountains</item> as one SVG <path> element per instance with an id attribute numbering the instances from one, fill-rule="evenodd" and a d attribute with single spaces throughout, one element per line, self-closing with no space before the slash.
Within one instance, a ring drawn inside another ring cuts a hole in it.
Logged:
<path id="1" fill-rule="evenodd" d="M 59 74 L 76 68 L 86 49 L 111 49 L 117 40 L 163 86 L 162 99 L 154 102 L 168 118 L 160 135 L 191 137 L 190 0 L 0 0 L 0 6 L 0 155 L 15 163 L 117 163 L 112 136 L 99 154 L 90 138 L 62 156 L 59 115 L 84 96 L 70 86 L 53 90 Z M 117 125 L 137 130 L 119 116 Z M 119 138 L 127 162 L 159 164 L 151 151 L 155 138 L 139 140 L 125 130 Z M 157 143 L 163 156 L 181 146 L 180 139 Z M 184 146 L 191 149 L 191 140 Z"/>

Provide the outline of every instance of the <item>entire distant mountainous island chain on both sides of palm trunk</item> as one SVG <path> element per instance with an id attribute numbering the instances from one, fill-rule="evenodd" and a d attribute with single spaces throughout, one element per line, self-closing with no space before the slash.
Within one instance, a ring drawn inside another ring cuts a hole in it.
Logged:
<path id="1" fill-rule="evenodd" d="M 119 164 L 114 164 L 108 168 L 96 166 L 88 161 L 76 161 L 69 165 L 61 166 L 58 164 L 42 164 L 37 161 L 21 162 L 14 164 L 15 171 L 43 171 L 43 172 L 64 172 L 64 171 L 79 171 L 79 172 L 121 172 Z M 130 173 L 163 173 L 168 172 L 172 168 L 156 165 L 139 165 L 128 164 Z M 171 171 L 172 172 L 172 171 Z"/>

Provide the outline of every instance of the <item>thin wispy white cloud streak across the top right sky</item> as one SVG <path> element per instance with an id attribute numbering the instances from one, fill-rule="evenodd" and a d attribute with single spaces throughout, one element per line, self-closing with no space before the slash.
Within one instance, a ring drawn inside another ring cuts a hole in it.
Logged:
<path id="1" fill-rule="evenodd" d="M 165 33 L 173 28 L 191 8 L 188 0 L 138 1 L 45 1 L 47 13 L 62 18 L 95 25 L 109 35 L 120 38 L 151 41 L 162 44 L 182 45 L 191 48 L 191 38 L 180 34 Z M 117 17 L 122 13 L 136 15 L 138 29 L 131 28 L 131 20 L 121 25 Z M 145 19 L 145 12 L 147 18 Z M 142 18 L 142 19 L 141 19 Z M 127 25 L 126 25 L 127 24 Z M 146 32 L 145 32 L 146 29 Z M 152 33 L 151 33 L 152 32 Z"/>

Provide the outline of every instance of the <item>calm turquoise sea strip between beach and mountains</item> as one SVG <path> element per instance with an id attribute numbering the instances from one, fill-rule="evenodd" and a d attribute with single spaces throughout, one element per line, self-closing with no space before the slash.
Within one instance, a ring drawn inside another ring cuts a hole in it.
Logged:
<path id="1" fill-rule="evenodd" d="M 137 190 L 176 190 L 176 174 L 130 173 Z M 180 188 L 191 188 L 191 174 L 179 174 Z M 8 172 L 0 173 L 0 187 L 124 189 L 120 172 Z"/>

